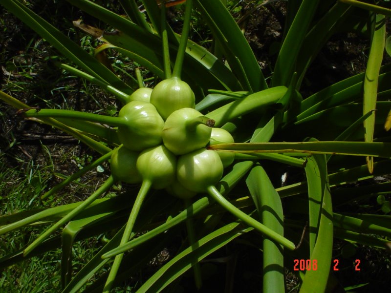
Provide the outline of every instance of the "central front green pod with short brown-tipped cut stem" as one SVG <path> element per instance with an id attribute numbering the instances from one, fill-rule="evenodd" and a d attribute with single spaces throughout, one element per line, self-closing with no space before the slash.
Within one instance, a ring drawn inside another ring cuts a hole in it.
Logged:
<path id="1" fill-rule="evenodd" d="M 163 143 L 175 155 L 187 154 L 208 144 L 213 125 L 214 120 L 195 109 L 176 110 L 164 124 Z"/>

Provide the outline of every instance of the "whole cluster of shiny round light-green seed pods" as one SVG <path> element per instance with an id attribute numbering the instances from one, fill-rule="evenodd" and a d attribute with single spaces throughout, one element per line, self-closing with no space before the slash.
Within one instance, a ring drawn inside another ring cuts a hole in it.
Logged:
<path id="1" fill-rule="evenodd" d="M 191 198 L 220 180 L 235 154 L 205 146 L 234 139 L 195 110 L 188 84 L 173 78 L 153 90 L 139 89 L 131 97 L 118 115 L 127 123 L 118 127 L 123 146 L 111 156 L 116 180 L 131 184 L 149 180 L 153 188 L 166 188 L 180 198 Z"/>

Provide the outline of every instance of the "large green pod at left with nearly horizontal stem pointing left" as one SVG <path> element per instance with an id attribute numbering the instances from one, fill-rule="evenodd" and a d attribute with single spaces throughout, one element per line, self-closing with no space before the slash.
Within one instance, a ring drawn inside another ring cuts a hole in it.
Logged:
<path id="1" fill-rule="evenodd" d="M 118 137 L 127 148 L 139 151 L 162 142 L 164 121 L 152 104 L 129 102 L 119 111 L 118 117 L 127 121 L 126 126 L 118 126 Z"/>

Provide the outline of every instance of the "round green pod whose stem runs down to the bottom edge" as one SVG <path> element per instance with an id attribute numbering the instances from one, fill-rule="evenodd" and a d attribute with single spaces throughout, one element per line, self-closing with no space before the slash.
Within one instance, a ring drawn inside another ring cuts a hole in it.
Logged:
<path id="1" fill-rule="evenodd" d="M 176 157 L 163 145 L 142 151 L 136 166 L 143 180 L 150 180 L 155 189 L 166 188 L 175 181 Z"/>

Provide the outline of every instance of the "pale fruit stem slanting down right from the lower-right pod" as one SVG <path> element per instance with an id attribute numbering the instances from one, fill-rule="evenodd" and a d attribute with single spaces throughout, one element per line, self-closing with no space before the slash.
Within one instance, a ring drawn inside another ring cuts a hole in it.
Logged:
<path id="1" fill-rule="evenodd" d="M 289 249 L 291 251 L 295 250 L 296 246 L 292 241 L 286 239 L 285 237 L 281 236 L 279 233 L 276 233 L 275 231 L 271 230 L 270 228 L 267 228 L 265 225 L 261 224 L 260 222 L 258 222 L 255 219 L 253 219 L 248 214 L 242 212 L 240 209 L 238 209 L 233 204 L 231 204 L 229 201 L 227 201 L 220 194 L 220 192 L 218 192 L 216 187 L 214 187 L 214 186 L 208 187 L 207 192 L 224 209 L 226 209 L 227 211 L 232 213 L 234 216 L 238 217 L 240 220 L 242 220 L 244 223 L 246 223 L 250 227 L 253 227 L 254 229 L 260 231 L 263 235 L 270 238 L 271 240 L 276 241 L 277 243 L 280 243 L 282 246 L 286 247 L 287 249 Z"/>

